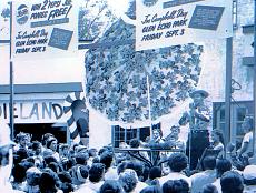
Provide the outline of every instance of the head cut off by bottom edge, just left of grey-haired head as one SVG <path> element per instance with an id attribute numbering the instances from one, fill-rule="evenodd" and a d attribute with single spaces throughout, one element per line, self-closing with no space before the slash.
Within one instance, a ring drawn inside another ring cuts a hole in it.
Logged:
<path id="1" fill-rule="evenodd" d="M 106 180 L 100 186 L 99 193 L 125 193 L 119 181 Z"/>

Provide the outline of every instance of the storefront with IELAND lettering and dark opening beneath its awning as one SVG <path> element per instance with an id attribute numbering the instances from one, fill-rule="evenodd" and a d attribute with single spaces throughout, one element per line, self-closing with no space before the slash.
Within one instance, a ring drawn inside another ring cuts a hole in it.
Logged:
<path id="1" fill-rule="evenodd" d="M 0 118 L 9 122 L 9 88 L 0 88 Z M 81 91 L 78 82 L 16 85 L 14 135 L 27 132 L 32 134 L 32 140 L 40 141 L 42 134 L 50 132 L 59 142 L 69 142 L 65 100 L 70 93 Z"/>

